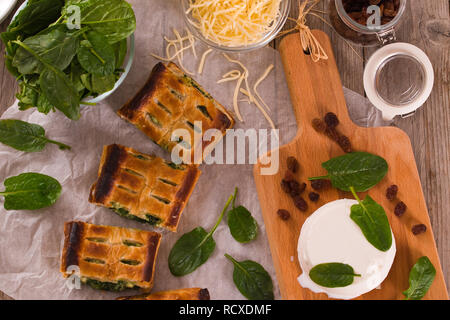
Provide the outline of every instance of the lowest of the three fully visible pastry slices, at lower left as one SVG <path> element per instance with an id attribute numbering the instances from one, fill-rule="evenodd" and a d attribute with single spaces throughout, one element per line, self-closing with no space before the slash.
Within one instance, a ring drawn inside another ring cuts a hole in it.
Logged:
<path id="1" fill-rule="evenodd" d="M 160 240 L 157 232 L 66 222 L 61 272 L 68 277 L 78 269 L 81 282 L 95 289 L 149 291 Z"/>

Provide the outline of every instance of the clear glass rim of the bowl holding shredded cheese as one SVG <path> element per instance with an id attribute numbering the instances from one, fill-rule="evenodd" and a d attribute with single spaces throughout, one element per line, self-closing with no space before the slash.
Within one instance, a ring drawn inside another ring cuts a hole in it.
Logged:
<path id="1" fill-rule="evenodd" d="M 260 41 L 249 44 L 247 46 L 222 46 L 220 44 L 217 44 L 214 41 L 211 41 L 203 36 L 203 34 L 190 22 L 189 19 L 193 19 L 190 14 L 186 14 L 186 11 L 189 8 L 189 0 L 181 0 L 181 10 L 183 10 L 183 16 L 185 23 L 187 25 L 187 28 L 191 31 L 191 33 L 204 43 L 206 43 L 208 46 L 222 50 L 222 51 L 228 51 L 228 52 L 244 52 L 244 51 L 251 51 L 255 49 L 259 49 L 261 47 L 264 47 L 266 44 L 268 44 L 270 41 L 272 41 L 276 35 L 281 31 L 283 28 L 288 16 L 289 16 L 289 9 L 291 8 L 291 0 L 281 0 L 280 3 L 280 16 L 278 17 L 278 20 L 275 21 L 275 27 L 268 33 L 266 33 Z"/>

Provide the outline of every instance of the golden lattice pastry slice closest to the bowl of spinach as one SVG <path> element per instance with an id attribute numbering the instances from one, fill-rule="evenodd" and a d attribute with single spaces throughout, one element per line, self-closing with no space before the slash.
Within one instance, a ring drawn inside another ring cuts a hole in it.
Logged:
<path id="1" fill-rule="evenodd" d="M 233 117 L 194 79 L 172 62 L 158 63 L 144 87 L 128 101 L 118 114 L 142 130 L 156 144 L 171 152 L 180 143 L 184 150 L 198 146 L 204 153 L 212 151 L 217 141 L 194 140 L 194 133 L 217 129 L 225 135 L 234 125 Z M 185 129 L 190 139 L 181 137 L 177 129 Z M 172 141 L 174 135 L 177 141 Z M 183 141 L 181 141 L 183 140 Z M 192 159 L 193 159 L 193 152 Z M 203 154 L 203 158 L 206 154 Z"/>

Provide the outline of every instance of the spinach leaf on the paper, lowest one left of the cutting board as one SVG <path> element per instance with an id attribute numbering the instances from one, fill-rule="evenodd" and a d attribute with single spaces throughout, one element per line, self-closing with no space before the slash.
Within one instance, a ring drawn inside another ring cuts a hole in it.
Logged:
<path id="1" fill-rule="evenodd" d="M 273 300 L 273 283 L 269 273 L 251 260 L 236 261 L 225 254 L 234 265 L 233 281 L 238 290 L 249 300 Z"/>

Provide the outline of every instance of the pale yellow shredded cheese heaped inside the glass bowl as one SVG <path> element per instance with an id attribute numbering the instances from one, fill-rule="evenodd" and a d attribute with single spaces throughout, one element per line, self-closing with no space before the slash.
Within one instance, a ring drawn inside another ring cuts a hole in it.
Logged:
<path id="1" fill-rule="evenodd" d="M 208 40 L 228 47 L 259 42 L 276 27 L 281 0 L 189 0 L 189 22 Z"/>

